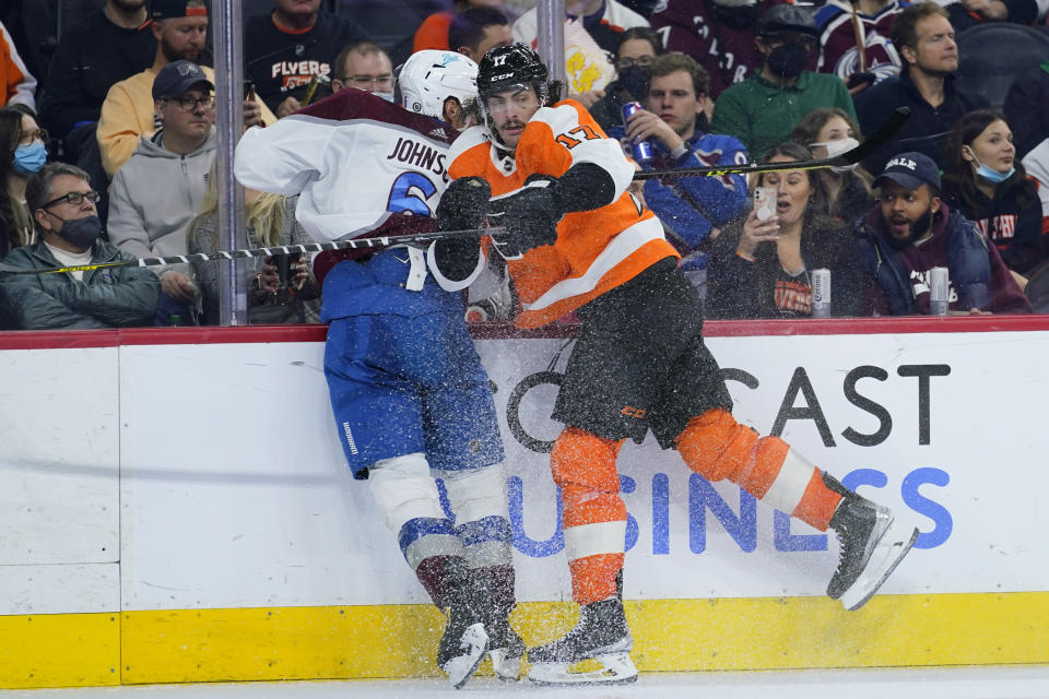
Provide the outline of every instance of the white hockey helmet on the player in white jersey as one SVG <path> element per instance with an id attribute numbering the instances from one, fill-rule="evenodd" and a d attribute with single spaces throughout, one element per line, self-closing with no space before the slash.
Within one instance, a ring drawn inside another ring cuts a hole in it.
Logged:
<path id="1" fill-rule="evenodd" d="M 448 97 L 460 105 L 476 98 L 478 64 L 462 54 L 426 49 L 409 57 L 397 82 L 402 107 L 444 119 Z"/>

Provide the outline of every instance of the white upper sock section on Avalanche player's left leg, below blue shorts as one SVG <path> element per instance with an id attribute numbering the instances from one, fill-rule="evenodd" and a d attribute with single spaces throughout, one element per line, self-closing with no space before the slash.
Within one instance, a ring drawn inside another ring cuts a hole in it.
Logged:
<path id="1" fill-rule="evenodd" d="M 368 467 L 368 487 L 382 521 L 396 534 L 411 520 L 447 519 L 422 453 L 376 461 Z"/>

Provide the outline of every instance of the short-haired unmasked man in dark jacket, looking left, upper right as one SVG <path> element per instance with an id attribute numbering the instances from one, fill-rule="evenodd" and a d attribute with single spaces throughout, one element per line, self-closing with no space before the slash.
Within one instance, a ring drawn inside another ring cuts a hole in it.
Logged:
<path id="1" fill-rule="evenodd" d="M 946 11 L 934 2 L 919 2 L 900 12 L 893 22 L 893 46 L 906 69 L 857 95 L 860 130 L 874 133 L 897 107 L 909 107 L 910 118 L 896 137 L 871 154 L 863 166 L 880 173 L 894 153 L 914 150 L 934 163 L 943 163 L 940 140 L 967 111 L 982 104 L 958 93 L 958 45 Z M 907 147 L 900 147 L 906 141 Z"/>

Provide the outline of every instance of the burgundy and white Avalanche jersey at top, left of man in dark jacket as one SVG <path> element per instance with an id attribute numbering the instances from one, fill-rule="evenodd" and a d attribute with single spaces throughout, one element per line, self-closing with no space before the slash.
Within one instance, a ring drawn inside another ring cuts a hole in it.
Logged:
<path id="1" fill-rule="evenodd" d="M 862 39 L 863 70 L 874 73 L 877 81 L 899 73 L 899 55 L 888 39 L 893 20 L 909 8 L 906 0 L 893 0 L 875 14 L 856 13 L 848 0 L 829 0 L 816 12 L 816 25 L 820 27 L 820 59 L 816 70 L 834 73 L 847 80 L 852 73 L 860 72 L 860 51 Z"/>

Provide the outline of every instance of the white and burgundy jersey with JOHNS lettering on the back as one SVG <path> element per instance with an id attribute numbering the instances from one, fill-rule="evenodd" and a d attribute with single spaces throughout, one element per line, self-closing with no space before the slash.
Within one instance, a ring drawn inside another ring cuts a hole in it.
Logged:
<path id="1" fill-rule="evenodd" d="M 300 194 L 296 217 L 318 241 L 344 240 L 406 216 L 433 216 L 456 131 L 349 88 L 248 129 L 234 173 L 245 187 Z"/>

